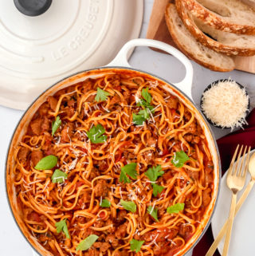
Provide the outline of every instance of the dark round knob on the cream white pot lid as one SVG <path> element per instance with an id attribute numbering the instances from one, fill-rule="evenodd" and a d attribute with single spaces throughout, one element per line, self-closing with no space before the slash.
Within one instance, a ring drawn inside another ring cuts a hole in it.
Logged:
<path id="1" fill-rule="evenodd" d="M 49 9 L 52 0 L 14 0 L 17 9 L 28 16 L 44 14 Z"/>

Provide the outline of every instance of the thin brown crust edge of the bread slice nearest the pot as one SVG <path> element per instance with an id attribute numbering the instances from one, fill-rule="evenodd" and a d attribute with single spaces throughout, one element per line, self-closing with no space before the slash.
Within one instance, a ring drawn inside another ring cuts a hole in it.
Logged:
<path id="1" fill-rule="evenodd" d="M 171 6 L 175 6 L 175 5 L 172 4 L 172 3 L 169 3 L 167 5 L 166 11 L 165 11 L 165 18 L 166 18 L 166 22 L 167 22 L 167 28 L 168 28 L 169 32 L 171 33 L 171 37 L 175 41 L 175 44 L 179 47 L 179 49 L 182 51 L 182 53 L 184 53 L 187 57 L 190 57 L 190 59 L 197 62 L 199 65 L 202 65 L 202 66 L 206 67 L 207 69 L 210 69 L 210 70 L 213 70 L 213 71 L 219 71 L 219 72 L 230 72 L 230 71 L 232 71 L 234 69 L 234 64 L 232 66 L 230 66 L 229 69 L 224 69 L 221 66 L 211 65 L 210 63 L 207 63 L 205 61 L 201 61 L 193 53 L 186 51 L 186 49 L 183 47 L 182 43 L 179 41 L 179 38 L 177 37 L 177 35 L 175 34 L 175 32 L 173 30 L 174 25 L 171 23 L 171 15 L 170 15 L 170 12 L 169 12 L 169 8 Z"/>

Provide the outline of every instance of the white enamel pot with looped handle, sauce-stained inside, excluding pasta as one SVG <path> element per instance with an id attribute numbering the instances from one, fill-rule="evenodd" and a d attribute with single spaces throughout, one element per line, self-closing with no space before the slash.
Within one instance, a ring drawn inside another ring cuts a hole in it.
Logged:
<path id="1" fill-rule="evenodd" d="M 137 69 L 132 69 L 131 66 L 128 64 L 128 52 L 135 46 L 149 46 L 170 53 L 171 55 L 178 58 L 179 61 L 181 61 L 182 64 L 185 66 L 186 76 L 181 82 L 173 85 L 159 77 L 156 77 L 151 73 L 143 72 Z M 158 80 L 160 83 L 165 84 L 165 89 L 167 91 L 177 96 L 179 100 L 181 100 L 183 104 L 186 105 L 187 108 L 190 108 L 190 110 L 192 110 L 195 113 L 196 119 L 198 120 L 202 129 L 204 130 L 208 142 L 208 147 L 210 149 L 210 153 L 214 163 L 214 191 L 212 192 L 212 200 L 210 202 L 208 210 L 205 212 L 204 219 L 200 227 L 198 227 L 198 230 L 196 230 L 195 234 L 192 236 L 192 238 L 190 238 L 189 242 L 186 243 L 182 250 L 180 250 L 179 253 L 175 255 L 177 256 L 186 254 L 186 252 L 190 250 L 198 242 L 199 238 L 202 237 L 202 234 L 204 234 L 204 232 L 206 231 L 207 227 L 210 224 L 210 219 L 214 213 L 214 207 L 218 197 L 221 167 L 219 162 L 218 148 L 216 141 L 214 140 L 214 135 L 212 134 L 210 126 L 206 122 L 204 116 L 202 116 L 202 113 L 198 110 L 198 108 L 196 108 L 192 100 L 192 65 L 190 61 L 182 53 L 179 52 L 179 50 L 175 49 L 171 45 L 167 45 L 163 42 L 149 39 L 134 39 L 128 41 L 128 43 L 126 43 L 123 46 L 123 48 L 120 49 L 120 52 L 117 54 L 116 58 L 107 66 L 98 69 L 89 69 L 85 70 L 84 72 L 74 74 L 73 76 L 67 77 L 57 82 L 49 89 L 47 89 L 45 93 L 42 93 L 41 96 L 39 96 L 37 100 L 35 100 L 33 104 L 30 105 L 30 107 L 26 110 L 24 116 L 22 116 L 22 119 L 20 120 L 17 128 L 15 129 L 14 136 L 12 137 L 12 140 L 10 142 L 10 148 L 6 159 L 6 192 L 9 199 L 11 211 L 14 215 L 14 219 L 18 224 L 20 230 L 22 231 L 22 234 L 24 234 L 25 238 L 27 239 L 27 241 L 30 243 L 31 246 L 33 246 L 33 249 L 37 251 L 37 254 L 41 254 L 42 256 L 52 255 L 49 253 L 49 251 L 46 251 L 31 234 L 29 234 L 29 230 L 22 221 L 22 215 L 18 209 L 15 187 L 12 182 L 12 180 L 14 179 L 14 174 L 12 173 L 12 169 L 14 167 L 14 149 L 18 146 L 19 142 L 22 140 L 22 136 L 26 133 L 29 121 L 32 119 L 34 113 L 37 111 L 37 108 L 39 108 L 40 105 L 45 102 L 48 96 L 57 93 L 57 91 L 59 91 L 60 89 L 64 89 L 69 85 L 76 84 L 77 82 L 84 81 L 88 78 L 102 77 L 108 73 L 115 72 L 125 73 L 127 71 L 135 73 L 137 74 L 137 76 L 143 75 L 145 77 Z"/>

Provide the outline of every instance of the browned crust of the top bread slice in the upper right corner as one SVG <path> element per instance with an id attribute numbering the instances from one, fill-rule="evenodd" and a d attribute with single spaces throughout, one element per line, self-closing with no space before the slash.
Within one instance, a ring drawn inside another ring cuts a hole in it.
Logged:
<path id="1" fill-rule="evenodd" d="M 255 26 L 241 25 L 233 22 L 229 22 L 219 15 L 215 15 L 214 12 L 206 9 L 196 0 L 182 0 L 182 6 L 193 14 L 194 17 L 199 18 L 202 22 L 213 27 L 216 30 L 222 30 L 230 33 L 237 34 L 255 34 Z"/>

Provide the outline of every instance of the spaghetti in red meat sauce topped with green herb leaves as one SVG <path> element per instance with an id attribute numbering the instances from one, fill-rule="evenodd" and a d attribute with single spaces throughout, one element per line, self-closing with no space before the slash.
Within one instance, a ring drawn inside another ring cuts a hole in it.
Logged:
<path id="1" fill-rule="evenodd" d="M 214 190 L 194 112 L 159 81 L 131 73 L 49 96 L 14 161 L 22 219 L 55 256 L 174 255 Z"/>

